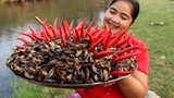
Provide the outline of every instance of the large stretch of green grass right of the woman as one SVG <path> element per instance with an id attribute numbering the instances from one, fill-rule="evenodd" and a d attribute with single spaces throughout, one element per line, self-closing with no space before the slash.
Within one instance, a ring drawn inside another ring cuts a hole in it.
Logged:
<path id="1" fill-rule="evenodd" d="M 174 97 L 174 1 L 139 0 L 141 12 L 134 25 L 135 36 L 150 53 L 149 89 L 162 98 Z M 163 22 L 163 25 L 150 23 Z"/>

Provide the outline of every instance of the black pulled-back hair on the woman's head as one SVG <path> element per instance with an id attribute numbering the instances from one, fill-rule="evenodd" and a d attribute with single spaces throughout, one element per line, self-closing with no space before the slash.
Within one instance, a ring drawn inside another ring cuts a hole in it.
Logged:
<path id="1" fill-rule="evenodd" d="M 137 0 L 112 0 L 112 2 L 110 3 L 109 7 L 111 7 L 116 1 L 127 1 L 132 4 L 132 7 L 133 7 L 132 16 L 133 16 L 133 23 L 134 23 L 134 21 L 136 20 L 136 17 L 139 14 L 139 2 Z"/>

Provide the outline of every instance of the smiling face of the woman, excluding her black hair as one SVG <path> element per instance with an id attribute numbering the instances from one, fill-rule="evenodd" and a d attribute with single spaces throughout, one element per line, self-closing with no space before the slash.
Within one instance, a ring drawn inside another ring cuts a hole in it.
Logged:
<path id="1" fill-rule="evenodd" d="M 107 10 L 103 23 L 110 26 L 114 34 L 117 34 L 121 28 L 127 30 L 133 22 L 132 10 L 129 2 L 116 1 Z"/>

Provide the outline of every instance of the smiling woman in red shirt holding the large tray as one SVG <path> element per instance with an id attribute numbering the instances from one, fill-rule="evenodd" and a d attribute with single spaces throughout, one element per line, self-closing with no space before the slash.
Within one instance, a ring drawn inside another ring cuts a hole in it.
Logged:
<path id="1" fill-rule="evenodd" d="M 139 13 L 139 3 L 137 0 L 112 0 L 110 7 L 105 11 L 103 24 L 108 29 L 119 36 L 122 32 L 128 30 L 130 25 Z M 127 36 L 125 36 L 126 39 Z M 77 89 L 82 98 L 145 98 L 148 90 L 148 68 L 149 68 L 149 53 L 146 45 L 130 37 L 128 42 L 133 46 L 138 46 L 139 54 L 135 56 L 137 59 L 138 69 L 132 75 L 115 82 L 112 85 L 95 87 L 91 89 Z M 134 50 L 133 52 L 136 52 Z"/>

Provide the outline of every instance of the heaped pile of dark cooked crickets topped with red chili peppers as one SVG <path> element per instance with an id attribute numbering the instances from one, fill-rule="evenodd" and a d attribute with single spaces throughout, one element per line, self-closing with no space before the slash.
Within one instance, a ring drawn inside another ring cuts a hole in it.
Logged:
<path id="1" fill-rule="evenodd" d="M 119 76 L 134 73 L 137 68 L 135 49 L 127 44 L 132 35 L 124 37 L 124 29 L 113 35 L 111 29 L 94 28 L 94 21 L 85 27 L 86 19 L 73 27 L 73 21 L 61 24 L 48 24 L 40 21 L 41 29 L 36 33 L 20 33 L 17 39 L 24 42 L 7 60 L 7 65 L 16 74 L 27 79 L 41 83 L 90 84 L 108 82 Z"/>

